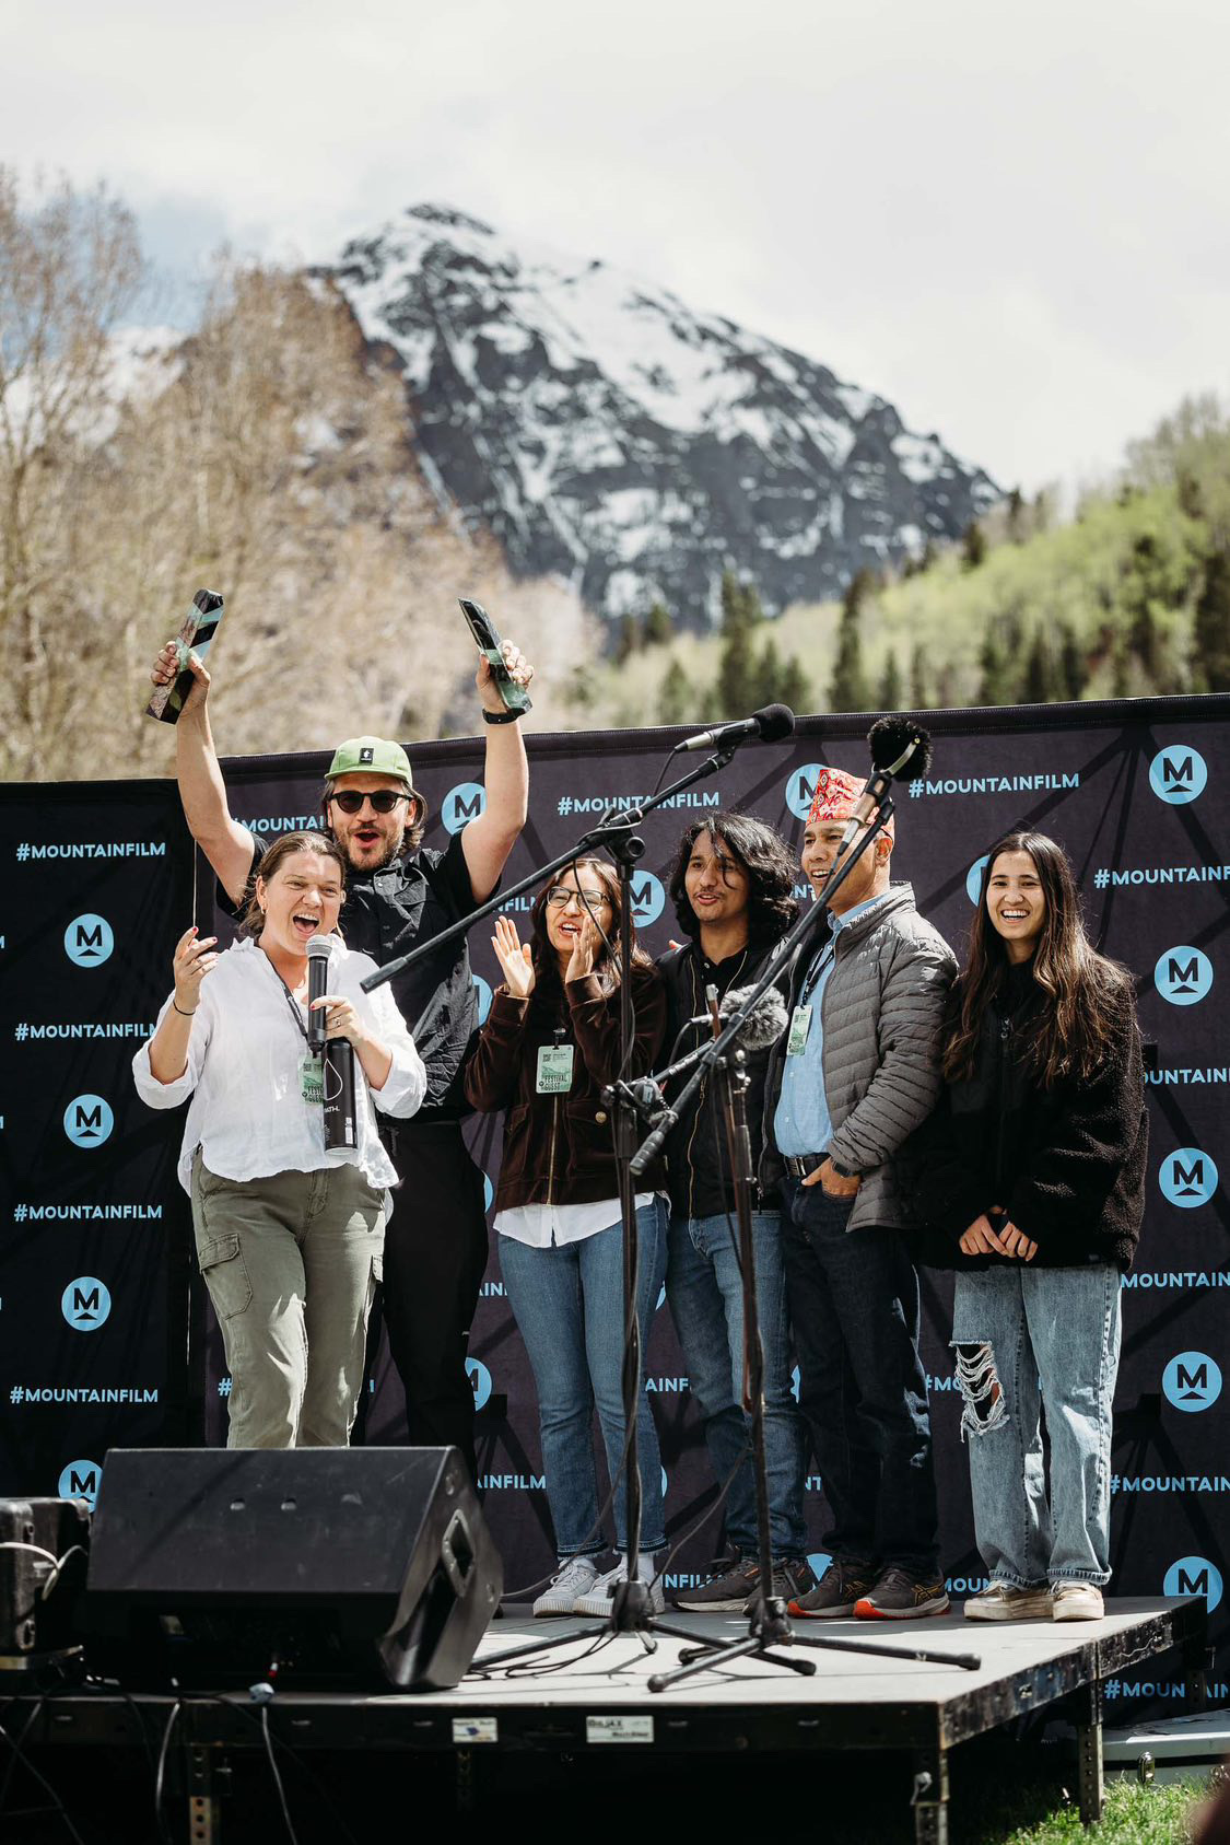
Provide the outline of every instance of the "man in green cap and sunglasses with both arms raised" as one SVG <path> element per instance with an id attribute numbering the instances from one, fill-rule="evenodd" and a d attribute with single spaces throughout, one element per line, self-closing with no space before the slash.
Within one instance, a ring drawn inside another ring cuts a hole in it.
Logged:
<path id="1" fill-rule="evenodd" d="M 513 679 L 533 668 L 503 642 Z M 195 686 L 175 725 L 175 768 L 188 828 L 218 875 L 219 902 L 240 913 L 264 841 L 236 821 L 208 721 L 210 675 L 190 659 Z M 175 644 L 153 664 L 153 683 L 179 672 Z M 352 736 L 325 775 L 325 819 L 345 852 L 347 946 L 393 961 L 470 915 L 500 882 L 526 825 L 529 764 L 516 712 L 500 697 L 479 653 L 474 684 L 487 727 L 483 812 L 443 851 L 422 845 L 426 801 L 400 744 Z M 424 956 L 393 982 L 428 1072 L 422 1109 L 382 1127 L 402 1184 L 384 1245 L 384 1319 L 406 1387 L 409 1441 L 455 1446 L 474 1472 L 474 1393 L 465 1369 L 467 1336 L 487 1266 L 483 1175 L 461 1138 L 461 1063 L 478 1028 L 478 1002 L 465 935 Z"/>

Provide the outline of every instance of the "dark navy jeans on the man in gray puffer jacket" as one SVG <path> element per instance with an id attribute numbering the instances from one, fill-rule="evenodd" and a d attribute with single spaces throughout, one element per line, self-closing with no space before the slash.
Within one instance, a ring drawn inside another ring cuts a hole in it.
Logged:
<path id="1" fill-rule="evenodd" d="M 835 1559 L 937 1570 L 918 1277 L 896 1231 L 846 1223 L 854 1199 L 782 1184 L 782 1251 L 798 1408 L 821 1469 Z"/>

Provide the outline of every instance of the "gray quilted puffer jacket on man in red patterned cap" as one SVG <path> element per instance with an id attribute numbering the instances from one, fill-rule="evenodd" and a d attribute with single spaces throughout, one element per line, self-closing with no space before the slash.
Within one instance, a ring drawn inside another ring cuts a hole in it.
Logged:
<path id="1" fill-rule="evenodd" d="M 791 1011 L 813 956 L 795 969 Z M 894 884 L 837 935 L 824 987 L 824 1094 L 834 1122 L 828 1153 L 861 1173 L 850 1229 L 918 1221 L 898 1148 L 918 1127 L 940 1090 L 944 1000 L 957 959 L 937 928 L 915 910 L 909 884 Z M 765 1151 L 760 1188 L 784 1175 L 773 1140 L 782 1092 L 786 1037 L 773 1048 L 765 1077 Z M 817 1153 L 821 1148 L 815 1149 Z"/>

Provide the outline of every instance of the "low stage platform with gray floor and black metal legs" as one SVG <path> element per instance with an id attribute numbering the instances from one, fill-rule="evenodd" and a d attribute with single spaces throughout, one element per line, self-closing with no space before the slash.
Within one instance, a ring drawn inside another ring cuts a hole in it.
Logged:
<path id="1" fill-rule="evenodd" d="M 692 1644 L 738 1640 L 747 1631 L 741 1616 L 668 1611 L 666 1620 L 693 1637 Z M 815 1660 L 815 1673 L 802 1677 L 741 1659 L 706 1666 L 656 1694 L 651 1677 L 679 1662 L 688 1638 L 658 1633 L 655 1649 L 645 1651 L 638 1635 L 614 1635 L 588 1651 L 594 1642 L 581 1638 L 586 1625 L 594 1624 L 535 1622 L 527 1609 L 513 1609 L 483 1637 L 463 1683 L 441 1692 L 280 1690 L 260 1712 L 242 1692 L 184 1690 L 179 1699 L 109 1688 L 55 1692 L 41 1712 L 31 1708 L 28 1740 L 149 1749 L 173 1727 L 175 1747 L 188 1762 L 194 1839 L 219 1838 L 214 1766 L 225 1751 L 266 1747 L 266 1721 L 275 1740 L 295 1749 L 452 1753 L 461 1804 L 472 1764 L 502 1749 L 561 1756 L 612 1747 L 666 1756 L 894 1751 L 913 1766 L 915 1839 L 937 1845 L 948 1836 L 953 1745 L 1068 1699 L 1066 1714 L 1077 1725 L 1081 1814 L 1092 1821 L 1103 1804 L 1105 1681 L 1178 1649 L 1195 1703 L 1204 1690 L 1200 1600 L 1110 1600 L 1099 1622 L 976 1624 L 959 1613 L 874 1627 L 850 1620 L 798 1622 L 798 1640 L 843 1640 L 850 1649 L 778 1642 L 787 1655 Z M 483 1666 L 494 1653 L 548 1637 L 564 1644 L 511 1668 Z M 979 1662 L 966 1670 L 955 1662 L 885 1659 L 867 1651 L 872 1642 L 904 1653 L 924 1648 L 977 1655 Z M 907 1815 L 902 1817 L 907 1827 Z"/>

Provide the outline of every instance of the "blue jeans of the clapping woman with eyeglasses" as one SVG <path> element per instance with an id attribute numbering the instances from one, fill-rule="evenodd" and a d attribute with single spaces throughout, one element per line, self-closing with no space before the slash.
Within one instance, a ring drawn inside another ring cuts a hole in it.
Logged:
<path id="1" fill-rule="evenodd" d="M 640 1244 L 642 1382 L 649 1323 L 666 1271 L 666 1205 L 655 1197 L 636 1212 Z M 596 1557 L 607 1548 L 597 1526 L 597 1469 L 592 1417 L 607 1448 L 607 1470 L 616 1485 L 616 1542 L 627 1548 L 623 1478 L 623 1225 L 585 1236 L 579 1244 L 531 1249 L 500 1238 L 500 1269 L 516 1315 L 538 1389 L 542 1467 L 555 1524 L 555 1548 L 564 1557 Z M 662 1454 L 645 1391 L 636 1419 L 640 1459 L 640 1548 L 666 1548 Z"/>

